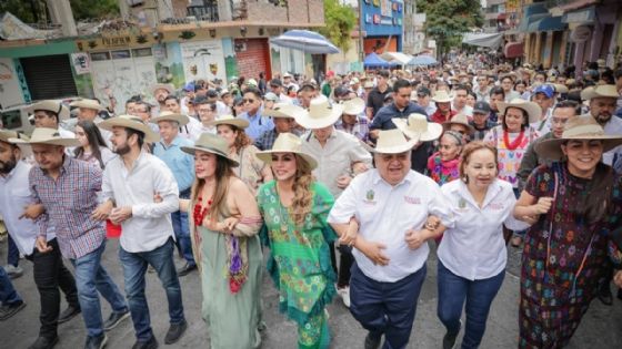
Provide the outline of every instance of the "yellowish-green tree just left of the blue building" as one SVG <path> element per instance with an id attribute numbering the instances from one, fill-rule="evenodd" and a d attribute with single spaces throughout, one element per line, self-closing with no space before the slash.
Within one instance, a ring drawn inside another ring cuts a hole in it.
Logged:
<path id="1" fill-rule="evenodd" d="M 341 4 L 339 0 L 324 0 L 324 22 L 327 25 L 320 28 L 319 32 L 334 43 L 343 54 L 352 44 L 350 33 L 357 25 L 354 11 L 351 6 Z"/>

